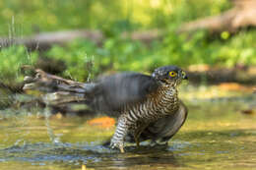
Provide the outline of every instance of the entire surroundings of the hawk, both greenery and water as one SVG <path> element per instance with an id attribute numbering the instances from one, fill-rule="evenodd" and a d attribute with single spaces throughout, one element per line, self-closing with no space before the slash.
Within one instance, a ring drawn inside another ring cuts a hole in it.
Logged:
<path id="1" fill-rule="evenodd" d="M 255 9 L 254 0 L 1 0 L 0 169 L 256 168 Z M 112 118 L 83 106 L 50 112 L 23 91 L 24 65 L 85 83 L 177 65 L 189 76 L 179 94 L 188 120 L 167 148 L 120 155 L 101 145 Z"/>

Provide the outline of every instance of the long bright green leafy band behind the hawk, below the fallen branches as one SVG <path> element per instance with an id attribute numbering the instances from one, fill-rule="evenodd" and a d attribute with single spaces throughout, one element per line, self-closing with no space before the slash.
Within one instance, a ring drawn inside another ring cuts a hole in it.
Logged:
<path id="1" fill-rule="evenodd" d="M 53 47 L 47 56 L 67 63 L 66 76 L 86 81 L 90 73 L 95 76 L 106 71 L 146 72 L 171 64 L 181 67 L 193 64 L 223 67 L 256 65 L 255 38 L 254 30 L 233 37 L 220 35 L 220 38 L 209 43 L 206 31 L 193 35 L 177 35 L 175 31 L 169 31 L 162 42 L 154 42 L 149 46 L 122 38 L 108 38 L 101 47 L 77 40 L 67 47 Z M 93 68 L 88 63 L 93 63 Z"/>

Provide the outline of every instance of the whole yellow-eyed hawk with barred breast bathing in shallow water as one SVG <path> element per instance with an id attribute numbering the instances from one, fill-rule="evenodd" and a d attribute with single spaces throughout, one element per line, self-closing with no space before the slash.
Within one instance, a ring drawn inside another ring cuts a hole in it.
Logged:
<path id="1" fill-rule="evenodd" d="M 167 143 L 184 124 L 188 109 L 178 97 L 178 85 L 188 80 L 177 66 L 162 66 L 152 75 L 124 72 L 93 83 L 79 83 L 37 69 L 25 77 L 24 90 L 44 91 L 50 104 L 81 102 L 96 112 L 117 118 L 111 148 L 124 152 L 125 142 Z"/>

